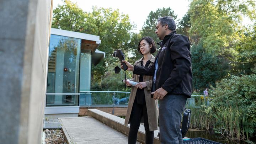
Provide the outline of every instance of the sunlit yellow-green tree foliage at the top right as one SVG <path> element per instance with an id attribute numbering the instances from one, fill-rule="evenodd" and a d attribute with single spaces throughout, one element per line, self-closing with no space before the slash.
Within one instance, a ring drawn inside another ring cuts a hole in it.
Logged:
<path id="1" fill-rule="evenodd" d="M 193 0 L 188 11 L 191 39 L 209 51 L 230 57 L 230 49 L 239 39 L 242 15 L 251 17 L 254 8 L 252 0 Z"/>

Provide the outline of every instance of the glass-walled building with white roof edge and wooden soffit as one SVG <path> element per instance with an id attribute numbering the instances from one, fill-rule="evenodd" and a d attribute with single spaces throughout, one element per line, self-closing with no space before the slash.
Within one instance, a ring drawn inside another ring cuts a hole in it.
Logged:
<path id="1" fill-rule="evenodd" d="M 52 28 L 49 44 L 45 114 L 78 114 L 90 91 L 91 65 L 105 57 L 99 36 Z M 74 115 L 73 115 L 74 116 Z"/>

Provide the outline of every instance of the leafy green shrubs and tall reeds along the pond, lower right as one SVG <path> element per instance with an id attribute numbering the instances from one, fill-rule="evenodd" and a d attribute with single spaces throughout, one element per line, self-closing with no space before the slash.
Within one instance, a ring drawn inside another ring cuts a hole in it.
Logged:
<path id="1" fill-rule="evenodd" d="M 191 128 L 213 129 L 215 133 L 240 143 L 252 143 L 256 133 L 256 74 L 232 76 L 209 90 L 210 106 L 195 98 Z"/>

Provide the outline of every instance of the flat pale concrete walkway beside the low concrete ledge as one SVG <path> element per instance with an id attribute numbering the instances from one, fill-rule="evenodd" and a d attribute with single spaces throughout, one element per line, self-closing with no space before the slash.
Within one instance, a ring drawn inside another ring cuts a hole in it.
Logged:
<path id="1" fill-rule="evenodd" d="M 127 144 L 128 137 L 93 117 L 59 118 L 69 144 Z M 137 142 L 137 144 L 141 144 Z"/>

